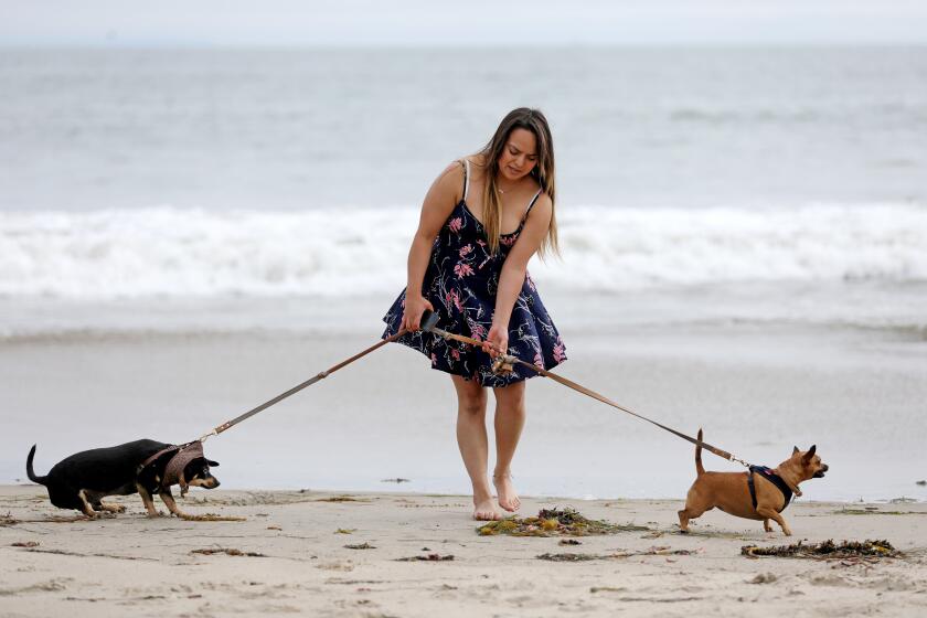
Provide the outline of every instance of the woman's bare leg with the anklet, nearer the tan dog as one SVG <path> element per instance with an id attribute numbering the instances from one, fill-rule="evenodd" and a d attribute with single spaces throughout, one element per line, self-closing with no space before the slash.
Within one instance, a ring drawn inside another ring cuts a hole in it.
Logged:
<path id="1" fill-rule="evenodd" d="M 496 484 L 499 505 L 512 512 L 521 507 L 519 494 L 512 486 L 510 466 L 524 427 L 524 383 L 515 382 L 492 390 L 496 395 L 496 470 L 492 472 L 492 482 Z"/>

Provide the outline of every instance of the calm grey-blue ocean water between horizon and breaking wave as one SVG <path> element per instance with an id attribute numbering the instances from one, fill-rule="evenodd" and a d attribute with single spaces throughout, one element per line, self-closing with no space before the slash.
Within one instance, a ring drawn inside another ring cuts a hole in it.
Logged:
<path id="1" fill-rule="evenodd" d="M 0 210 L 420 203 L 519 105 L 564 212 L 927 201 L 927 51 L 0 52 Z"/>

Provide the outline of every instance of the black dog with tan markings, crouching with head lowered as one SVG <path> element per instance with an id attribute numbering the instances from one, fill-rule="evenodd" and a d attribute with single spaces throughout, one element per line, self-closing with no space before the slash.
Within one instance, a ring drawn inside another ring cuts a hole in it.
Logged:
<path id="1" fill-rule="evenodd" d="M 171 486 L 180 484 L 180 493 L 188 486 L 206 489 L 219 487 L 219 479 L 210 473 L 210 466 L 219 466 L 203 456 L 202 443 L 174 446 L 154 440 L 136 440 L 109 448 L 85 450 L 62 459 L 44 477 L 32 470 L 35 445 L 25 460 L 30 480 L 49 490 L 49 499 L 60 509 L 76 509 L 88 518 L 97 512 L 121 513 L 121 504 L 105 504 L 107 496 L 129 496 L 138 492 L 149 516 L 158 516 L 153 493 L 161 497 L 171 513 L 188 519 L 171 494 Z"/>

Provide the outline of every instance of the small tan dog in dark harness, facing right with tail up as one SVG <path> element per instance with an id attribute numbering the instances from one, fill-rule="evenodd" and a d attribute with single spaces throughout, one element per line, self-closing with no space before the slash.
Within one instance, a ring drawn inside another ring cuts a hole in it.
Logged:
<path id="1" fill-rule="evenodd" d="M 702 429 L 699 429 L 701 439 Z M 696 446 L 697 477 L 685 497 L 685 509 L 679 512 L 680 530 L 689 532 L 689 520 L 717 507 L 731 515 L 763 520 L 766 532 L 772 532 L 769 520 L 774 520 L 786 536 L 791 536 L 789 524 L 780 513 L 788 507 L 792 492 L 801 496 L 798 483 L 822 478 L 828 471 L 828 465 L 821 462 L 814 450 L 814 446 L 807 451 L 795 447 L 791 457 L 772 470 L 753 466 L 749 472 L 706 472 L 702 467 L 702 447 Z"/>

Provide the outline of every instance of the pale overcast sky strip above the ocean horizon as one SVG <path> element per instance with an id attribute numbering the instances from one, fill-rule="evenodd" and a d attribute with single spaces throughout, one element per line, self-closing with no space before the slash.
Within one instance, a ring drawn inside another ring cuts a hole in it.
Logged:
<path id="1" fill-rule="evenodd" d="M 0 0 L 0 45 L 927 44 L 927 0 Z"/>

